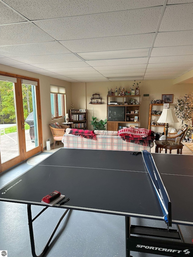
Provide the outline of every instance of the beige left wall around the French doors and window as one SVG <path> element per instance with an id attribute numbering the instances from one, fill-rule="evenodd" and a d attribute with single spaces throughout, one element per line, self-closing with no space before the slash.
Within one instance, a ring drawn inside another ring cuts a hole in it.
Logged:
<path id="1" fill-rule="evenodd" d="M 51 118 L 51 102 L 50 102 L 50 84 L 57 86 L 65 86 L 66 88 L 66 107 L 67 110 L 71 106 L 71 83 L 59 80 L 56 78 L 52 78 L 49 76 L 44 76 L 41 74 L 37 74 L 35 72 L 25 71 L 21 69 L 17 69 L 15 67 L 10 67 L 6 65 L 0 64 L 0 71 L 19 74 L 22 76 L 27 76 L 31 78 L 37 78 L 40 80 L 40 102 L 41 102 L 41 114 L 42 114 L 42 135 L 43 135 L 43 147 L 46 146 L 46 140 L 52 137 L 51 130 L 48 124 L 52 123 Z M 64 122 L 64 118 L 54 120 L 54 122 L 59 122 L 60 124 Z M 53 140 L 52 140 L 53 143 Z"/>

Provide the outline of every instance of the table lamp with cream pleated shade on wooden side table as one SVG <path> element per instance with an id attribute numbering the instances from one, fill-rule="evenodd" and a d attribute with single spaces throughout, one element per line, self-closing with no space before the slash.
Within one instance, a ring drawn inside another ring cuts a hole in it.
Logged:
<path id="1" fill-rule="evenodd" d="M 162 142 L 162 144 L 170 144 L 168 142 L 168 123 L 177 123 L 179 122 L 178 119 L 176 118 L 176 115 L 174 113 L 174 109 L 168 108 L 168 109 L 163 109 L 162 114 L 157 121 L 157 123 L 165 123 L 165 134 L 166 134 L 166 139 Z"/>

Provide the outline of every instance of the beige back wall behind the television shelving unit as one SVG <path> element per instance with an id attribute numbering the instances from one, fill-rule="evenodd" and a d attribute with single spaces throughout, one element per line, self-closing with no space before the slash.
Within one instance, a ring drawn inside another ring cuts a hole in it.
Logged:
<path id="1" fill-rule="evenodd" d="M 136 81 L 139 82 L 139 81 Z M 124 82 L 96 82 L 96 83 L 72 83 L 72 101 L 74 108 L 86 108 L 88 109 L 88 129 L 92 130 L 93 127 L 90 125 L 92 116 L 96 117 L 97 120 L 104 120 L 107 115 L 107 92 L 108 88 L 115 90 L 115 87 L 122 89 L 123 86 L 127 91 L 130 90 L 134 81 L 124 81 Z M 184 96 L 186 93 L 191 93 L 193 91 L 193 84 L 177 84 L 173 85 L 173 80 L 144 80 L 139 86 L 141 95 L 141 106 L 140 106 L 140 127 L 148 128 L 148 118 L 149 118 L 149 105 L 150 100 L 144 100 L 148 97 L 144 97 L 144 94 L 149 94 L 154 97 L 154 100 L 161 99 L 162 94 L 174 94 L 174 103 L 169 105 L 169 108 L 173 108 L 175 105 L 175 98 L 179 96 Z M 86 92 L 86 96 L 84 95 Z M 103 98 L 104 104 L 102 105 L 91 105 L 89 104 L 92 94 L 100 94 Z M 82 100 L 86 100 L 86 104 Z M 82 105 L 80 104 L 82 102 Z M 93 110 L 92 110 L 93 108 Z M 170 124 L 170 128 L 176 127 L 181 128 L 181 123 Z M 162 130 L 162 128 L 161 128 Z M 170 130 L 169 130 L 170 131 Z M 163 132 L 158 131 L 156 132 Z"/>

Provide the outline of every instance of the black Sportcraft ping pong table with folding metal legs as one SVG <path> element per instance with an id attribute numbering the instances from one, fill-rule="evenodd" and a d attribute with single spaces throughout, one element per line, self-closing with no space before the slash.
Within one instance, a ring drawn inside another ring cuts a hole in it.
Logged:
<path id="1" fill-rule="evenodd" d="M 170 223 L 173 226 L 168 230 L 131 224 L 131 217 L 163 221 L 163 210 L 143 156 L 134 152 L 59 149 L 2 187 L 0 200 L 27 204 L 33 256 L 37 256 L 33 221 L 49 208 L 41 202 L 43 196 L 55 190 L 70 200 L 64 205 L 52 206 L 66 210 L 39 256 L 46 254 L 69 209 L 125 216 L 127 257 L 130 251 L 173 257 L 193 256 L 193 244 L 184 242 L 179 227 L 193 225 L 193 156 L 157 153 L 152 156 L 171 201 Z M 32 218 L 31 205 L 45 208 Z"/>

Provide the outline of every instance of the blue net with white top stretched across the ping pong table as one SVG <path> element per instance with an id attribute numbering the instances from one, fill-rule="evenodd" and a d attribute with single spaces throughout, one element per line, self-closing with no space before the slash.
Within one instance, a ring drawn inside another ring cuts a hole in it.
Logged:
<path id="1" fill-rule="evenodd" d="M 143 150 L 141 152 L 145 166 L 150 175 L 153 187 L 160 202 L 160 206 L 163 212 L 163 220 L 166 222 L 167 227 L 169 229 L 169 227 L 172 226 L 172 211 L 169 195 L 157 170 L 152 155 L 150 154 L 150 152 L 147 152 L 147 150 Z"/>

